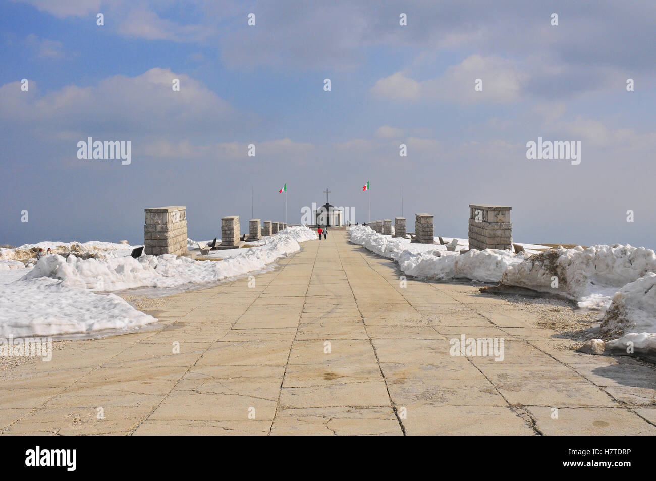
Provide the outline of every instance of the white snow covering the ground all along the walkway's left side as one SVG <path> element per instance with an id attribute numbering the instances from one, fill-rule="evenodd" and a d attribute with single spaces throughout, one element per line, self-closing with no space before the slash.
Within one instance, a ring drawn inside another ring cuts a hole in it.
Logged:
<path id="1" fill-rule="evenodd" d="M 47 245 L 54 249 L 54 245 L 67 244 L 40 243 L 3 249 L 0 337 L 75 337 L 133 331 L 157 320 L 134 309 L 111 291 L 134 287 L 208 287 L 263 270 L 276 259 L 300 250 L 299 242 L 316 238 L 316 232 L 307 227 L 288 226 L 275 236 L 264 238 L 260 247 L 221 251 L 230 252 L 230 257 L 222 255 L 228 258 L 219 262 L 176 259 L 173 255 L 133 259 L 128 255 L 132 246 L 96 242 L 82 244 L 85 252 L 106 255 L 87 260 L 72 255 L 66 259 L 57 254 L 47 255 L 29 268 L 14 259 L 31 247 Z"/>

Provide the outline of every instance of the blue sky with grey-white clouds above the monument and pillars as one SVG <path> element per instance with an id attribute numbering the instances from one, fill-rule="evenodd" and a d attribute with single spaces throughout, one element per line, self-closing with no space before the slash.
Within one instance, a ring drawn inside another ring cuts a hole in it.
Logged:
<path id="1" fill-rule="evenodd" d="M 409 232 L 466 238 L 488 203 L 515 241 L 656 248 L 655 23 L 632 0 L 0 1 L 0 244 L 138 245 L 166 205 L 206 240 L 247 232 L 251 191 L 294 224 L 328 187 Z M 78 159 L 89 137 L 131 163 Z M 539 137 L 580 163 L 527 159 Z"/>

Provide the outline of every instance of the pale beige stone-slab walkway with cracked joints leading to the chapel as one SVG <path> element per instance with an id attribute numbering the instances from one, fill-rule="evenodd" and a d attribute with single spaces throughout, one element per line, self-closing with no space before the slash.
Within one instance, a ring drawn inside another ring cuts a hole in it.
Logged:
<path id="1" fill-rule="evenodd" d="M 568 350 L 469 285 L 401 287 L 393 262 L 343 230 L 302 247 L 254 287 L 243 279 L 167 298 L 155 331 L 73 341 L 51 362 L 2 373 L 0 429 L 656 434 L 652 367 Z M 462 334 L 502 337 L 504 360 L 451 356 L 449 339 Z"/>

